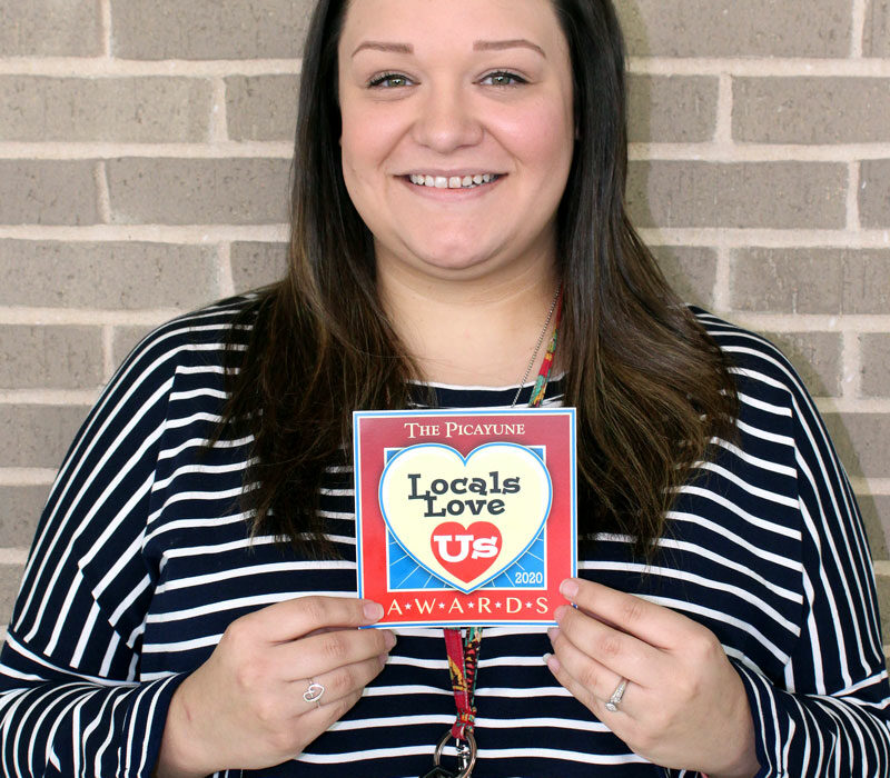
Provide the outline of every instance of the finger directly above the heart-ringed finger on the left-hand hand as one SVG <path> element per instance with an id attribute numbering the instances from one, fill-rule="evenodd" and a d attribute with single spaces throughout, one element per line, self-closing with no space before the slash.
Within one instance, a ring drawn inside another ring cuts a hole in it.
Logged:
<path id="1" fill-rule="evenodd" d="M 336 629 L 278 644 L 273 656 L 285 680 L 299 680 L 388 654 L 395 645 L 396 636 L 388 629 Z"/>

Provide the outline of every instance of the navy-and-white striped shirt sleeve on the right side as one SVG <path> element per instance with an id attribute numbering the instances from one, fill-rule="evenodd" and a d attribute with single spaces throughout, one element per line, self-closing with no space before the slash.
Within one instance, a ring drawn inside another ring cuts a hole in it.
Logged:
<path id="1" fill-rule="evenodd" d="M 793 369 L 768 346 L 758 360 L 790 392 L 804 592 L 802 630 L 784 678 L 735 662 L 754 715 L 758 778 L 888 776 L 890 699 L 859 510 Z"/>

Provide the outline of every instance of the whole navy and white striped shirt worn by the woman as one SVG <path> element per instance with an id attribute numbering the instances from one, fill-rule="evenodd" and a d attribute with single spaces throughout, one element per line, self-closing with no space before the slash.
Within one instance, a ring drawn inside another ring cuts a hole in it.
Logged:
<path id="1" fill-rule="evenodd" d="M 52 488 L 0 656 L 0 770 L 149 776 L 178 682 L 234 619 L 356 590 L 353 476 L 322 495 L 339 561 L 249 539 L 250 439 L 206 451 L 224 343 L 244 298 L 150 335 L 106 388 Z M 736 368 L 735 445 L 715 440 L 669 515 L 656 561 L 601 536 L 580 575 L 716 634 L 740 672 L 762 776 L 890 775 L 890 688 L 869 551 L 812 400 L 761 338 L 706 313 Z M 245 333 L 246 338 L 246 333 Z M 546 403 L 558 403 L 558 381 Z M 439 388 L 443 407 L 510 406 L 515 388 Z M 527 392 L 527 389 L 526 389 Z M 644 575 L 645 573 L 645 575 Z M 543 629 L 487 629 L 474 776 L 659 776 L 558 686 Z M 297 760 L 222 775 L 415 777 L 454 720 L 442 630 L 411 629 L 362 700 Z"/>

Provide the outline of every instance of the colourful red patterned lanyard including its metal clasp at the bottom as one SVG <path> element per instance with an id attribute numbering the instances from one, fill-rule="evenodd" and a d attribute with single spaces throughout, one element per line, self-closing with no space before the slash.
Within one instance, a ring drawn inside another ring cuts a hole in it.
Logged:
<path id="1" fill-rule="evenodd" d="M 530 408 L 541 406 L 544 400 L 544 393 L 547 390 L 547 382 L 553 368 L 553 353 L 556 351 L 556 337 L 560 331 L 560 320 L 563 312 L 562 302 L 561 296 L 556 309 L 553 338 L 551 338 L 547 352 L 541 362 L 541 370 L 537 373 L 535 386 L 532 389 L 532 397 L 528 400 Z M 476 739 L 473 736 L 473 727 L 476 722 L 474 698 L 476 695 L 476 669 L 482 646 L 482 627 L 467 627 L 463 635 L 462 630 L 457 628 L 448 628 L 444 631 L 445 648 L 448 652 L 448 672 L 452 677 L 457 718 L 436 745 L 436 750 L 433 754 L 435 766 L 423 778 L 468 778 L 473 771 L 473 766 L 476 764 Z M 457 772 L 451 772 L 439 765 L 442 749 L 452 738 L 456 741 L 457 747 Z"/>

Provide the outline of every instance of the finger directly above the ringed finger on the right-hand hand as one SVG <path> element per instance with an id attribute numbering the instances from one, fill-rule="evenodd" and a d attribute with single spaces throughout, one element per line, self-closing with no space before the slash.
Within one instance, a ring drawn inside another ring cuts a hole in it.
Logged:
<path id="1" fill-rule="evenodd" d="M 633 635 L 568 606 L 557 608 L 554 616 L 562 640 L 619 676 L 650 687 L 668 671 L 668 655 Z"/>

